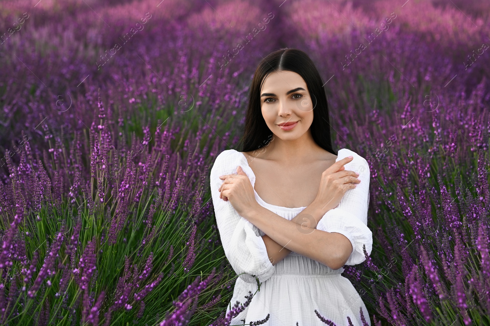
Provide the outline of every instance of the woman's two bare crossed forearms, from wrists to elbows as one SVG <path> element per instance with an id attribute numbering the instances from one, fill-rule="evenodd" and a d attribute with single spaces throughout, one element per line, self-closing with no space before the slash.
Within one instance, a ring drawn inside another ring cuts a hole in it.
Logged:
<path id="1" fill-rule="evenodd" d="M 333 207 L 325 210 L 324 205 L 313 202 L 290 221 L 257 205 L 244 217 L 266 233 L 262 239 L 273 265 L 294 251 L 336 270 L 345 264 L 353 248 L 343 234 L 316 229 L 330 209 Z"/>

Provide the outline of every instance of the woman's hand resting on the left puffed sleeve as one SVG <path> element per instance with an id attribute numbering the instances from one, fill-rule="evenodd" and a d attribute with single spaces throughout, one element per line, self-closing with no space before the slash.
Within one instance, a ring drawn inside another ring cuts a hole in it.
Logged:
<path id="1" fill-rule="evenodd" d="M 241 216 L 245 216 L 247 210 L 258 205 L 252 183 L 241 166 L 237 167 L 237 174 L 225 174 L 220 179 L 224 180 L 218 189 L 221 192 L 220 198 L 229 200 Z"/>

